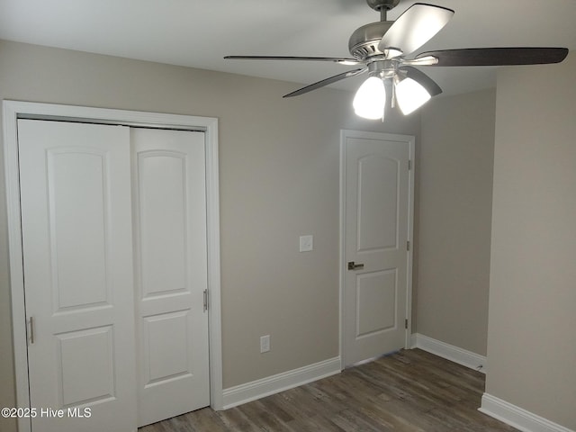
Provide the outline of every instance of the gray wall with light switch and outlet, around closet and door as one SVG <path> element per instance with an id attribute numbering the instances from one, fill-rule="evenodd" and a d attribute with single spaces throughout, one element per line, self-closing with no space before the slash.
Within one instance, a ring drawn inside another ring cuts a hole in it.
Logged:
<path id="1" fill-rule="evenodd" d="M 417 135 L 419 115 L 361 121 L 352 94 L 283 100 L 290 83 L 0 41 L 0 98 L 220 119 L 224 387 L 338 356 L 339 130 Z M 0 405 L 14 406 L 4 161 Z M 314 251 L 298 253 L 298 237 Z M 259 353 L 259 337 L 272 352 Z M 0 429 L 14 423 L 0 419 Z"/>

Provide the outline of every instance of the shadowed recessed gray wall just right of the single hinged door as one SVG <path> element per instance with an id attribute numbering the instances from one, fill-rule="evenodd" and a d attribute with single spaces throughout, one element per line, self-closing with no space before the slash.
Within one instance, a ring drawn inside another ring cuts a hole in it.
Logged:
<path id="1" fill-rule="evenodd" d="M 486 355 L 494 90 L 437 98 L 422 112 L 418 333 Z"/>

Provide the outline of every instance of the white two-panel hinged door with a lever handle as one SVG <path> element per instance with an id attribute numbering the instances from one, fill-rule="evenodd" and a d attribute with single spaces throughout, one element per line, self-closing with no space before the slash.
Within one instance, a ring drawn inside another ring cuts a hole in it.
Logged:
<path id="1" fill-rule="evenodd" d="M 405 346 L 410 139 L 343 134 L 345 365 Z"/>

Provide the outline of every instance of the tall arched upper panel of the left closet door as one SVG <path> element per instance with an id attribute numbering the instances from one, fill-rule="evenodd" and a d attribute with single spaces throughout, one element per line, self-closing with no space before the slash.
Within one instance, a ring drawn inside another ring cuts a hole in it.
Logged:
<path id="1" fill-rule="evenodd" d="M 50 148 L 48 205 L 54 311 L 110 304 L 106 281 L 106 151 L 96 148 Z M 82 182 L 73 179 L 82 178 Z M 90 238 L 90 247 L 81 239 Z M 82 286 L 82 290 L 77 287 Z"/>

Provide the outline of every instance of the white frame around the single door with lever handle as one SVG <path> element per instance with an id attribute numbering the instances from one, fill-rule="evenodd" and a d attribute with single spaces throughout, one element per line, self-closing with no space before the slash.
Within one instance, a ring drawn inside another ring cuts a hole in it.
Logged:
<path id="1" fill-rule="evenodd" d="M 411 347 L 411 333 L 412 333 L 412 259 L 414 254 L 414 151 L 415 151 L 415 137 L 412 135 L 399 135 L 384 132 L 370 132 L 365 130 L 340 130 L 340 253 L 339 253 L 339 323 L 340 323 L 340 338 L 339 338 L 339 353 L 340 353 L 340 369 L 343 370 L 346 365 L 345 352 L 344 352 L 344 313 L 345 309 L 345 296 L 344 289 L 346 284 L 346 141 L 348 138 L 358 139 L 386 139 L 391 141 L 405 142 L 409 146 L 409 184 L 408 184 L 408 240 L 410 241 L 410 250 L 407 251 L 407 275 L 406 275 L 406 317 L 408 318 L 408 329 L 404 338 L 404 348 Z"/>

